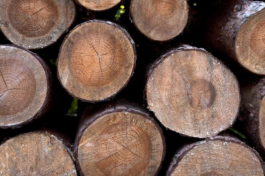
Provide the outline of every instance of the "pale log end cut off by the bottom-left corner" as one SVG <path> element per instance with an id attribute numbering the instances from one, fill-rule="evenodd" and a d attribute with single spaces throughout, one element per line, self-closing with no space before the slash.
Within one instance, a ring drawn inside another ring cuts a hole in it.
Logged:
<path id="1" fill-rule="evenodd" d="M 26 133 L 0 146 L 1 175 L 77 175 L 68 149 L 46 132 Z"/>

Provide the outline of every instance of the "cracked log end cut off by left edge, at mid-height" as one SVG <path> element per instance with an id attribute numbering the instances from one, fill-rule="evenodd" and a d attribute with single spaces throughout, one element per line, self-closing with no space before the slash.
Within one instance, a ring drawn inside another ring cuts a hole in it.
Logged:
<path id="1" fill-rule="evenodd" d="M 0 128 L 13 128 L 48 111 L 51 72 L 36 54 L 0 45 Z"/>

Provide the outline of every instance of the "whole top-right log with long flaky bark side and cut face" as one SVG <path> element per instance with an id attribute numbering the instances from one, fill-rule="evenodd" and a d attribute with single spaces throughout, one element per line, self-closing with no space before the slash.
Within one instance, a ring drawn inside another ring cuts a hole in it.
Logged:
<path id="1" fill-rule="evenodd" d="M 263 28 L 264 2 L 215 1 L 207 14 L 206 40 L 256 74 L 265 74 Z"/>

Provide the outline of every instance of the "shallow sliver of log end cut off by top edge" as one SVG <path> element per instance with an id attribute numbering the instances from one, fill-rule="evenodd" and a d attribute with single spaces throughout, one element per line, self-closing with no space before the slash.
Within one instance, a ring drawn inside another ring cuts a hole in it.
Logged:
<path id="1" fill-rule="evenodd" d="M 93 11 L 104 11 L 113 8 L 119 4 L 121 0 L 75 0 L 75 2 Z"/>

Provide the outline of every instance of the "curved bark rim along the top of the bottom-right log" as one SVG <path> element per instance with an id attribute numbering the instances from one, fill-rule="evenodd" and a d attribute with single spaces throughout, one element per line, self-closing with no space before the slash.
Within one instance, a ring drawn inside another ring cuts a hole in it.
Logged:
<path id="1" fill-rule="evenodd" d="M 264 173 L 264 169 L 265 169 L 265 164 L 262 160 L 262 158 L 259 156 L 259 154 L 257 153 L 257 151 L 255 151 L 253 148 L 247 146 L 244 142 L 240 141 L 237 138 L 234 137 L 230 137 L 230 136 L 213 136 L 213 137 L 209 137 L 204 139 L 203 141 L 198 141 L 195 143 L 190 143 L 187 145 L 182 146 L 178 152 L 176 152 L 176 154 L 173 156 L 171 163 L 168 166 L 168 169 L 166 171 L 166 176 L 170 176 L 171 173 L 173 172 L 173 170 L 176 168 L 176 166 L 179 165 L 180 161 L 182 160 L 182 158 L 194 147 L 199 146 L 201 144 L 207 143 L 209 141 L 227 141 L 227 142 L 233 142 L 233 143 L 238 143 L 241 144 L 242 146 L 248 148 L 252 153 L 255 154 L 255 156 L 258 158 L 259 163 L 262 167 L 263 173 Z"/>

